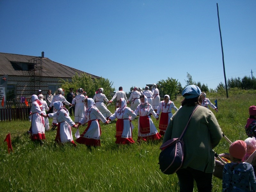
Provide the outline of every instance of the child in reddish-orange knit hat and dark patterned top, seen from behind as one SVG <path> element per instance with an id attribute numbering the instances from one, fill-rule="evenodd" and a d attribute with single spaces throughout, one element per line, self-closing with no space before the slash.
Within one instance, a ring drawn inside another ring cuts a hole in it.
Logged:
<path id="1" fill-rule="evenodd" d="M 256 191 L 256 180 L 252 165 L 242 162 L 246 154 L 246 143 L 243 140 L 233 142 L 229 147 L 231 163 L 223 169 L 222 192 Z"/>

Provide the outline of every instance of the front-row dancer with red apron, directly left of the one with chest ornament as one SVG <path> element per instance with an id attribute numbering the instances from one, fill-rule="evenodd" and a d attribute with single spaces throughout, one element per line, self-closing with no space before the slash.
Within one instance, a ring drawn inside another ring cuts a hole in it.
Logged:
<path id="1" fill-rule="evenodd" d="M 109 121 L 116 121 L 116 143 L 117 144 L 131 144 L 135 143 L 132 139 L 133 125 L 130 118 L 135 118 L 136 114 L 131 108 L 126 106 L 126 100 L 121 98 L 118 102 L 119 108 L 116 109 L 115 113 L 108 118 Z"/>

